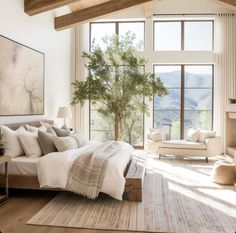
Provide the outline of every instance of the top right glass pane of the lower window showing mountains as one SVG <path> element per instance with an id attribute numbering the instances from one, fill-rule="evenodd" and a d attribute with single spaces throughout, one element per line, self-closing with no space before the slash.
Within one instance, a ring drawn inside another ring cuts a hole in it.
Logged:
<path id="1" fill-rule="evenodd" d="M 185 88 L 212 88 L 212 66 L 185 66 Z"/>

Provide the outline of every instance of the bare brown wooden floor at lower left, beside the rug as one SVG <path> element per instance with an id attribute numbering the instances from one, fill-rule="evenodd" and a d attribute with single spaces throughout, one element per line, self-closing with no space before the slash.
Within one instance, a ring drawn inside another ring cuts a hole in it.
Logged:
<path id="1" fill-rule="evenodd" d="M 56 194 L 57 192 L 50 191 L 10 190 L 8 202 L 0 206 L 0 233 L 124 233 L 26 225 L 26 222 Z"/>

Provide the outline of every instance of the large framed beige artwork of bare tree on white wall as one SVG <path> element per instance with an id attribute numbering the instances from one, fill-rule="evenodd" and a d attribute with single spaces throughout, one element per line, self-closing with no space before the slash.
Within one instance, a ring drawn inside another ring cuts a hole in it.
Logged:
<path id="1" fill-rule="evenodd" d="M 44 54 L 0 35 L 0 116 L 44 114 Z"/>

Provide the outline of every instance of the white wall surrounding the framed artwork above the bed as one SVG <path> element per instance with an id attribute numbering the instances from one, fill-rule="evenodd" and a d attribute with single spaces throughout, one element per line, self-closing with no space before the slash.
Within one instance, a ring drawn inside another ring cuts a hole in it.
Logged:
<path id="1" fill-rule="evenodd" d="M 0 124 L 55 119 L 59 106 L 70 105 L 73 30 L 55 31 L 54 14 L 28 16 L 23 0 L 0 0 L 0 34 L 45 54 L 45 114 L 0 117 Z"/>

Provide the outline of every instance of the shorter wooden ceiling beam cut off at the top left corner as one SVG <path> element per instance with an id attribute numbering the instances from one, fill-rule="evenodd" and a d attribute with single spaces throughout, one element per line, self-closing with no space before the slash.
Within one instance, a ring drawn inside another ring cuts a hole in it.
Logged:
<path id="1" fill-rule="evenodd" d="M 36 15 L 76 1 L 78 0 L 24 0 L 24 8 L 26 14 Z"/>

